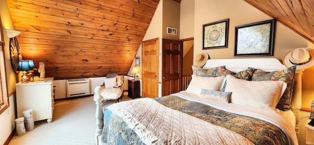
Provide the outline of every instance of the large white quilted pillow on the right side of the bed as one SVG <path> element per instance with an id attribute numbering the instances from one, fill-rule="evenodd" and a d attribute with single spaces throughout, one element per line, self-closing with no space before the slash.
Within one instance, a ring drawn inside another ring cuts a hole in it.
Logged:
<path id="1" fill-rule="evenodd" d="M 247 81 L 232 75 L 227 75 L 226 79 L 225 91 L 232 92 L 230 102 L 275 112 L 276 105 L 287 87 L 284 81 Z"/>

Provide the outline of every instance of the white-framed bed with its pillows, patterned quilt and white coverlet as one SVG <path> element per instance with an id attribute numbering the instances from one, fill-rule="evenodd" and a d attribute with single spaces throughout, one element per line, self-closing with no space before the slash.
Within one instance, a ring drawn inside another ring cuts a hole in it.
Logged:
<path id="1" fill-rule="evenodd" d="M 298 91 L 293 90 L 295 66 L 250 58 L 209 59 L 203 68 L 192 68 L 186 91 L 166 97 L 103 109 L 102 88 L 96 87 L 96 144 L 298 144 L 301 98 L 292 97 Z"/>

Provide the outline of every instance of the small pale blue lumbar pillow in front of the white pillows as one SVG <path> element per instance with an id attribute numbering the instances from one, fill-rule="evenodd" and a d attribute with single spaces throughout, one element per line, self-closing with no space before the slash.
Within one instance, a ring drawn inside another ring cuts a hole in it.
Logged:
<path id="1" fill-rule="evenodd" d="M 229 103 L 230 95 L 231 95 L 231 92 L 220 92 L 220 91 L 214 91 L 214 90 L 201 89 L 200 97 Z"/>

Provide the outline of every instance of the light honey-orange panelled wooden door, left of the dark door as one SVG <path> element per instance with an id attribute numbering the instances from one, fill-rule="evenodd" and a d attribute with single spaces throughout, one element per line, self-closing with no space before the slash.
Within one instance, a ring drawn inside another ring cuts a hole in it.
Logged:
<path id="1" fill-rule="evenodd" d="M 142 43 L 142 97 L 158 97 L 159 39 Z"/>

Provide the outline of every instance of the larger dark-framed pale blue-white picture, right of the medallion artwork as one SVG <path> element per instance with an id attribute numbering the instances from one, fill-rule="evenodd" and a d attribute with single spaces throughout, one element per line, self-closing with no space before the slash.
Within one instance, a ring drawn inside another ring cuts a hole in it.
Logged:
<path id="1" fill-rule="evenodd" d="M 235 26 L 235 56 L 273 56 L 276 20 Z"/>

